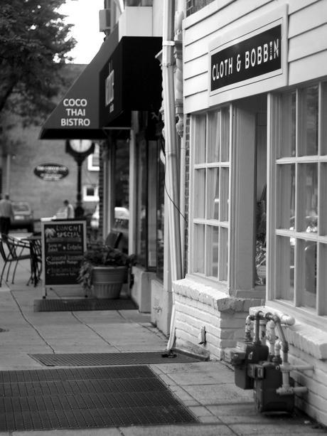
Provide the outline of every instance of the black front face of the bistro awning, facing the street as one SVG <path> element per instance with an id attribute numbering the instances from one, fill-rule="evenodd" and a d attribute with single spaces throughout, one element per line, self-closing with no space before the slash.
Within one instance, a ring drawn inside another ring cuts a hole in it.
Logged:
<path id="1" fill-rule="evenodd" d="M 155 56 L 161 48 L 159 37 L 124 36 L 119 41 L 100 72 L 103 127 L 116 127 L 132 110 L 159 110 L 162 79 Z"/>

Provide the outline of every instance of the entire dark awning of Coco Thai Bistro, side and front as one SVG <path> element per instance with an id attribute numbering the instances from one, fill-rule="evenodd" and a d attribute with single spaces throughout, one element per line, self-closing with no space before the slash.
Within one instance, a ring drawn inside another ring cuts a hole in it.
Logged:
<path id="1" fill-rule="evenodd" d="M 115 29 L 66 92 L 40 139 L 104 139 L 106 129 L 129 128 L 132 110 L 159 110 L 161 38 L 124 36 Z"/>

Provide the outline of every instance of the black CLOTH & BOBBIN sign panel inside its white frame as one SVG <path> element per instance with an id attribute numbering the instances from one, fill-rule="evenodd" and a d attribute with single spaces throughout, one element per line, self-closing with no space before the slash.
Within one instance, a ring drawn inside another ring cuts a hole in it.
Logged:
<path id="1" fill-rule="evenodd" d="M 210 90 L 259 78 L 282 67 L 282 25 L 218 50 L 211 55 Z"/>

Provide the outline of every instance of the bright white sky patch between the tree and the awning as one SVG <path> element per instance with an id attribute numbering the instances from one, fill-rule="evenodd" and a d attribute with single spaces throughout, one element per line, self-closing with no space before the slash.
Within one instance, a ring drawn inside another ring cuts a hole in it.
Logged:
<path id="1" fill-rule="evenodd" d="M 103 0 L 66 0 L 60 7 L 60 14 L 67 15 L 67 23 L 75 24 L 72 36 L 77 45 L 69 55 L 74 63 L 88 64 L 95 57 L 103 43 L 104 33 L 99 31 L 99 11 Z"/>

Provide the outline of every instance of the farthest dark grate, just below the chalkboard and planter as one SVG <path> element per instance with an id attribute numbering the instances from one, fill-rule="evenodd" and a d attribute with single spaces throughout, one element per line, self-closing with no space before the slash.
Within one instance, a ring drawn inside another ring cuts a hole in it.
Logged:
<path id="1" fill-rule="evenodd" d="M 34 312 L 77 312 L 82 310 L 129 310 L 138 306 L 132 299 L 35 299 Z"/>

